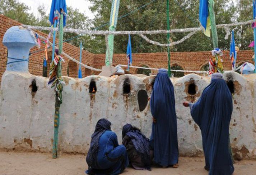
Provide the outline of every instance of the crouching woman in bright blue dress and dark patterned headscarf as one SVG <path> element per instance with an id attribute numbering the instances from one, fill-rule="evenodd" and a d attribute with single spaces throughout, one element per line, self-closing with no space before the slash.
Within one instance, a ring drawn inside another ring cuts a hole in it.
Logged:
<path id="1" fill-rule="evenodd" d="M 86 162 L 87 174 L 115 175 L 120 174 L 129 165 L 124 145 L 118 145 L 117 135 L 111 131 L 111 122 L 100 119 L 92 135 Z"/>

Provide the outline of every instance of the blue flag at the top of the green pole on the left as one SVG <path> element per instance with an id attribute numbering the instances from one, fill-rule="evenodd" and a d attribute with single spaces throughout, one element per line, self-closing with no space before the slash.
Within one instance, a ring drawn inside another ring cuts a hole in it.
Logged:
<path id="1" fill-rule="evenodd" d="M 53 18 L 54 16 L 54 12 L 55 10 L 58 10 L 58 12 L 60 13 L 60 9 L 63 9 L 63 11 L 65 12 L 65 14 L 67 13 L 67 6 L 66 6 L 66 0 L 52 0 L 52 5 L 51 5 L 51 11 L 50 11 L 50 16 L 49 16 L 49 21 L 51 22 L 51 24 L 53 25 Z M 63 15 L 63 27 L 66 26 L 66 15 Z"/>

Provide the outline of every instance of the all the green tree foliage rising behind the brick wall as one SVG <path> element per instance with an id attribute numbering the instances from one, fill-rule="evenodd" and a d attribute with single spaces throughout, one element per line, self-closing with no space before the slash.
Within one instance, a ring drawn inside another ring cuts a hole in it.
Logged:
<path id="1" fill-rule="evenodd" d="M 84 13 L 78 9 L 68 7 L 67 28 L 108 30 L 112 0 L 89 0 L 92 3 L 90 10 L 97 14 L 95 19 L 89 20 Z M 118 20 L 116 30 L 166 30 L 166 0 L 156 0 L 153 3 L 139 9 L 151 0 L 121 0 L 119 17 L 128 14 Z M 190 28 L 199 26 L 199 0 L 169 0 L 170 28 Z M 38 17 L 28 12 L 29 7 L 18 0 L 0 0 L 0 13 L 23 24 L 49 26 L 48 14 L 44 6 L 38 7 Z M 215 0 L 215 17 L 217 24 L 234 23 L 252 19 L 252 1 L 238 0 Z M 104 25 L 101 28 L 97 28 Z M 235 40 L 240 50 L 247 50 L 248 45 L 253 41 L 253 30 L 251 25 L 236 26 Z M 171 34 L 171 40 L 177 41 L 186 36 L 183 33 Z M 230 36 L 224 39 L 224 29 L 218 29 L 219 48 L 229 50 Z M 64 40 L 77 36 L 74 33 L 65 33 Z M 147 35 L 149 39 L 160 43 L 167 43 L 166 34 Z M 116 35 L 114 40 L 114 52 L 126 53 L 127 35 Z M 83 35 L 68 43 L 79 47 L 80 42 L 83 48 L 92 53 L 105 53 L 105 36 Z M 167 48 L 147 43 L 138 35 L 131 35 L 132 53 L 166 52 Z M 171 51 L 210 51 L 213 45 L 210 38 L 202 32 L 198 32 L 182 44 L 175 45 Z"/>

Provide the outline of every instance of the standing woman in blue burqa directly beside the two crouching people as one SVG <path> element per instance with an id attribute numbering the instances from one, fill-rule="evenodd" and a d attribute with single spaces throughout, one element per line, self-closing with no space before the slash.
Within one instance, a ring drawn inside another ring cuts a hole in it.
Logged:
<path id="1" fill-rule="evenodd" d="M 155 77 L 150 108 L 153 116 L 150 145 L 154 162 L 163 168 L 178 167 L 177 117 L 174 89 L 166 69 L 159 69 Z"/>

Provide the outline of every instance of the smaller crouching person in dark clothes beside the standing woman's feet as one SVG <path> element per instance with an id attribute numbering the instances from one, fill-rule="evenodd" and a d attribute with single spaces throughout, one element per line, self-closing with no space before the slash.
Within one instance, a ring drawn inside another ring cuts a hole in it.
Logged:
<path id="1" fill-rule="evenodd" d="M 138 129 L 126 124 L 122 130 L 122 144 L 126 147 L 130 165 L 136 170 L 151 170 L 153 151 L 149 139 Z"/>

